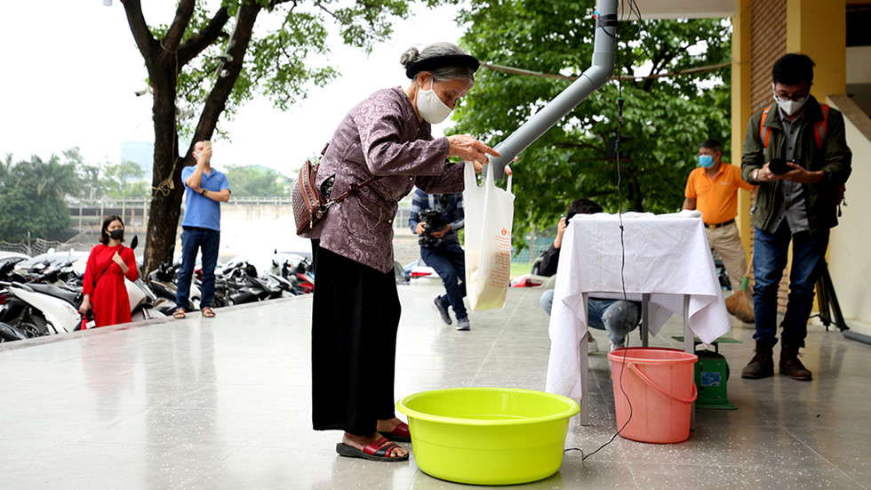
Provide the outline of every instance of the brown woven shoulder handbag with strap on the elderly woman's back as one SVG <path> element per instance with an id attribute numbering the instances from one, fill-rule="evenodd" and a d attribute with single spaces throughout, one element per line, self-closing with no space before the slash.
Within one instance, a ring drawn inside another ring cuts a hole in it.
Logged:
<path id="1" fill-rule="evenodd" d="M 362 184 L 351 184 L 348 191 L 339 197 L 327 201 L 321 194 L 320 189 L 317 189 L 315 178 L 317 175 L 317 167 L 321 165 L 321 160 L 324 159 L 324 154 L 329 146 L 330 144 L 327 143 L 327 146 L 325 146 L 324 150 L 321 151 L 321 156 L 317 157 L 316 162 L 313 163 L 311 159 L 306 160 L 306 163 L 303 164 L 300 169 L 299 177 L 296 182 L 293 183 L 291 200 L 293 202 L 293 220 L 296 221 L 297 235 L 302 235 L 303 233 L 315 228 L 315 224 L 324 218 L 327 210 L 330 209 L 330 206 L 339 203 L 346 197 L 354 194 L 357 190 L 363 189 L 372 182 L 380 179 L 380 176 L 376 176 L 368 181 L 364 181 Z"/>

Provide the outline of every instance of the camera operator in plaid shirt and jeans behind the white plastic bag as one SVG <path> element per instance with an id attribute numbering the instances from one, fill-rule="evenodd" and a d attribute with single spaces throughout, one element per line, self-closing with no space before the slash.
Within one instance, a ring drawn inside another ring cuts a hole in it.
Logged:
<path id="1" fill-rule="evenodd" d="M 466 297 L 466 256 L 457 230 L 463 228 L 463 195 L 428 195 L 414 189 L 412 214 L 408 224 L 418 235 L 420 258 L 442 278 L 445 294 L 435 297 L 433 308 L 442 321 L 451 325 L 448 306 L 457 317 L 457 330 L 468 330 L 468 314 L 463 298 Z"/>

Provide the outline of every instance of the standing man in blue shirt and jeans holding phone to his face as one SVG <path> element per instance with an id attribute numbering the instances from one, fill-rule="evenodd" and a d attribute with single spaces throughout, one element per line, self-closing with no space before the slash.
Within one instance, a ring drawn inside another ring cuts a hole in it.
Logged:
<path id="1" fill-rule="evenodd" d="M 175 302 L 178 309 L 172 314 L 184 318 L 190 309 L 188 293 L 194 273 L 196 252 L 203 253 L 203 297 L 200 311 L 204 317 L 214 317 L 212 300 L 215 297 L 215 265 L 220 245 L 220 203 L 230 199 L 227 176 L 212 168 L 212 142 L 197 141 L 191 152 L 195 166 L 181 171 L 185 183 L 185 218 L 181 222 L 181 270 Z"/>

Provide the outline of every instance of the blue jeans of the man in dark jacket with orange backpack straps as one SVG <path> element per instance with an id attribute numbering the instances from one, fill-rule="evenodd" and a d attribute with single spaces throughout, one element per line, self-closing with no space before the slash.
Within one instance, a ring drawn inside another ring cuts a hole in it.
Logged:
<path id="1" fill-rule="evenodd" d="M 812 235 L 807 231 L 793 235 L 787 220 L 783 220 L 774 233 L 755 228 L 753 308 L 756 333 L 753 338 L 770 347 L 778 341 L 778 289 L 783 269 L 787 266 L 790 240 L 793 261 L 789 268 L 787 312 L 780 324 L 783 326 L 780 338 L 785 345 L 804 347 L 813 307 L 813 287 L 828 246 L 828 230 Z"/>

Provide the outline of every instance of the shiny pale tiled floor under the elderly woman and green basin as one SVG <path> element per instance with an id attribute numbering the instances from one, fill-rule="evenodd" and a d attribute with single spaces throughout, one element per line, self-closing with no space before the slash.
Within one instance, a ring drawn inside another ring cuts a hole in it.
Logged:
<path id="1" fill-rule="evenodd" d="M 429 308 L 437 285 L 401 286 L 396 397 L 454 386 L 541 390 L 547 317 L 538 289 L 473 312 L 472 330 Z M 310 300 L 295 298 L 150 325 L 0 346 L 0 487 L 450 489 L 413 461 L 334 453 L 339 432 L 310 425 Z M 680 347 L 673 318 L 651 345 Z M 724 345 L 735 411 L 697 410 L 675 445 L 616 438 L 533 488 L 871 488 L 871 347 L 811 327 L 803 361 L 813 382 L 740 379 L 752 329 Z M 594 332 L 600 346 L 603 332 Z M 631 341 L 637 343 L 634 333 Z M 589 454 L 615 431 L 611 371 L 591 357 L 590 425 L 567 447 Z M 410 445 L 408 445 L 410 446 Z"/>

